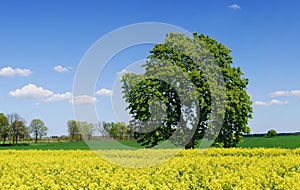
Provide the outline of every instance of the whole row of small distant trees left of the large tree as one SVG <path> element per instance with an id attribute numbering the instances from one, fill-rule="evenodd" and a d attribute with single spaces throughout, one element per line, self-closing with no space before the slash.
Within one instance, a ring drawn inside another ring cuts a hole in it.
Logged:
<path id="1" fill-rule="evenodd" d="M 82 141 L 91 139 L 133 139 L 133 132 L 124 122 L 98 122 L 89 123 L 84 121 L 69 120 L 67 122 L 68 136 L 64 140 Z M 0 113 L 0 138 L 2 143 L 17 144 L 20 140 L 34 140 L 35 143 L 45 137 L 48 127 L 41 119 L 33 119 L 26 126 L 25 119 L 17 114 L 5 115 Z M 58 136 L 53 136 L 57 137 Z M 84 139 L 83 139 L 84 138 Z"/>

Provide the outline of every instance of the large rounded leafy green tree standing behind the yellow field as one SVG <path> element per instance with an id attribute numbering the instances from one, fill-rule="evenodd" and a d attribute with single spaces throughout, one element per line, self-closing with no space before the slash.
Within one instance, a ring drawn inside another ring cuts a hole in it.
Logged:
<path id="1" fill-rule="evenodd" d="M 122 78 L 125 101 L 129 104 L 128 109 L 133 117 L 131 125 L 134 126 L 134 137 L 139 143 L 153 147 L 174 134 L 177 134 L 175 141 L 178 142 L 180 135 L 184 139 L 187 134 L 193 132 L 192 139 L 189 142 L 183 141 L 182 144 L 187 144 L 186 148 L 194 147 L 195 141 L 202 139 L 204 134 L 209 140 L 216 137 L 220 122 L 216 118 L 222 115 L 225 117 L 215 145 L 235 147 L 241 141 L 242 134 L 250 132 L 247 123 L 251 118 L 252 102 L 246 91 L 248 79 L 242 77 L 243 73 L 239 67 L 231 66 L 230 50 L 223 44 L 203 34 L 195 33 L 190 39 L 182 34 L 171 33 L 167 35 L 164 43 L 155 45 L 150 53 L 144 65 L 146 76 L 128 73 Z M 207 64 L 208 62 L 215 62 L 218 68 Z M 165 70 L 159 70 L 162 67 Z M 215 72 L 218 69 L 220 73 Z M 225 90 L 219 88 L 222 81 L 218 74 L 223 75 Z M 168 76 L 175 83 L 164 76 Z M 196 94 L 189 92 L 188 88 L 183 88 L 186 83 L 182 80 L 184 77 L 193 83 Z M 177 79 L 180 82 L 176 83 Z M 180 87 L 186 91 L 184 99 L 179 97 L 179 94 L 184 93 L 180 92 Z M 198 101 L 197 121 L 192 120 L 192 111 L 186 111 L 186 115 L 182 114 L 183 109 L 193 106 L 186 101 L 193 97 Z M 222 99 L 226 100 L 225 113 L 222 111 Z M 183 104 L 187 106 L 183 107 Z M 155 109 L 151 110 L 153 105 L 156 105 Z M 153 110 L 160 110 L 166 114 L 153 114 Z M 216 112 L 215 115 L 213 111 Z M 151 121 L 147 122 L 149 119 Z M 191 131 L 182 120 L 196 123 L 196 129 Z M 155 128 L 149 130 L 153 124 Z M 209 131 L 208 134 L 206 131 Z"/>

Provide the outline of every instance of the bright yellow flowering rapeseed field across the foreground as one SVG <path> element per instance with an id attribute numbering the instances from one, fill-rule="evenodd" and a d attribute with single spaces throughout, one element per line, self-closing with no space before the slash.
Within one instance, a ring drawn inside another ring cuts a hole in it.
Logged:
<path id="1" fill-rule="evenodd" d="M 168 151 L 175 150 L 98 153 L 135 163 Z M 300 189 L 300 149 L 184 150 L 148 168 L 112 164 L 94 151 L 5 150 L 0 168 L 0 189 Z"/>

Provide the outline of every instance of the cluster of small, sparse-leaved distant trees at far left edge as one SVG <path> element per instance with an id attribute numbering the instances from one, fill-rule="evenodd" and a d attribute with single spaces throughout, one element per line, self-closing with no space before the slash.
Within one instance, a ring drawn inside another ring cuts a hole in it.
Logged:
<path id="1" fill-rule="evenodd" d="M 33 119 L 29 126 L 26 126 L 25 119 L 17 113 L 5 115 L 0 113 L 0 137 L 3 144 L 10 140 L 12 144 L 17 144 L 20 139 L 29 138 L 33 135 L 35 142 L 46 136 L 48 128 L 40 119 Z"/>

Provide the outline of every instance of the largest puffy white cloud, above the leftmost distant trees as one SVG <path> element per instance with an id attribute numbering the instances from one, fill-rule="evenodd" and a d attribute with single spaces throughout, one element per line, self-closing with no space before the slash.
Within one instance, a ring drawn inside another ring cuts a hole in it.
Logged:
<path id="1" fill-rule="evenodd" d="M 49 98 L 53 94 L 54 93 L 52 91 L 38 87 L 35 84 L 28 84 L 21 89 L 9 92 L 9 95 L 12 97 L 26 99 L 45 99 Z"/>

